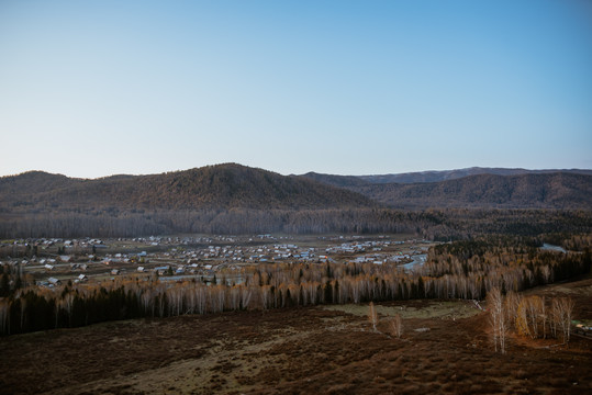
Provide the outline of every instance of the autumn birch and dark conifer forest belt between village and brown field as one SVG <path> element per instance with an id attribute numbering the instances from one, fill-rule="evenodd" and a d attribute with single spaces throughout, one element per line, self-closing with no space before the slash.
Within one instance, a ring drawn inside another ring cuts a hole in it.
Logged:
<path id="1" fill-rule="evenodd" d="M 442 244 L 431 248 L 427 261 L 413 271 L 391 263 L 258 263 L 244 267 L 242 281 L 237 283 L 228 282 L 222 272 L 210 283 L 194 279 L 165 282 L 153 274 L 142 280 L 124 276 L 101 284 L 67 283 L 46 289 L 33 286 L 18 270 L 4 266 L 0 267 L 0 296 L 3 296 L 0 298 L 0 332 L 11 335 L 115 319 L 320 304 L 410 298 L 483 300 L 492 290 L 499 290 L 500 297 L 506 295 L 506 300 L 512 300 L 520 291 L 590 271 L 592 256 L 588 248 L 562 253 L 540 250 L 535 241 L 490 236 Z M 528 318 L 533 316 L 528 313 L 533 305 L 541 308 L 545 303 L 540 305 L 524 298 L 511 305 L 517 312 L 516 317 L 525 316 L 516 321 L 521 323 L 518 330 L 528 336 L 563 330 L 550 323 L 533 324 Z"/>

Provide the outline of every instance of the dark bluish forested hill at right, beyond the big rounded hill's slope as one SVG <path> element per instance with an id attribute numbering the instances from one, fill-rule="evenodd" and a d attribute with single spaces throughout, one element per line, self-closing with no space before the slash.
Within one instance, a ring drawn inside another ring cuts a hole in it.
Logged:
<path id="1" fill-rule="evenodd" d="M 560 208 L 592 210 L 592 176 L 556 172 L 479 174 L 429 183 L 350 187 L 395 208 Z"/>

